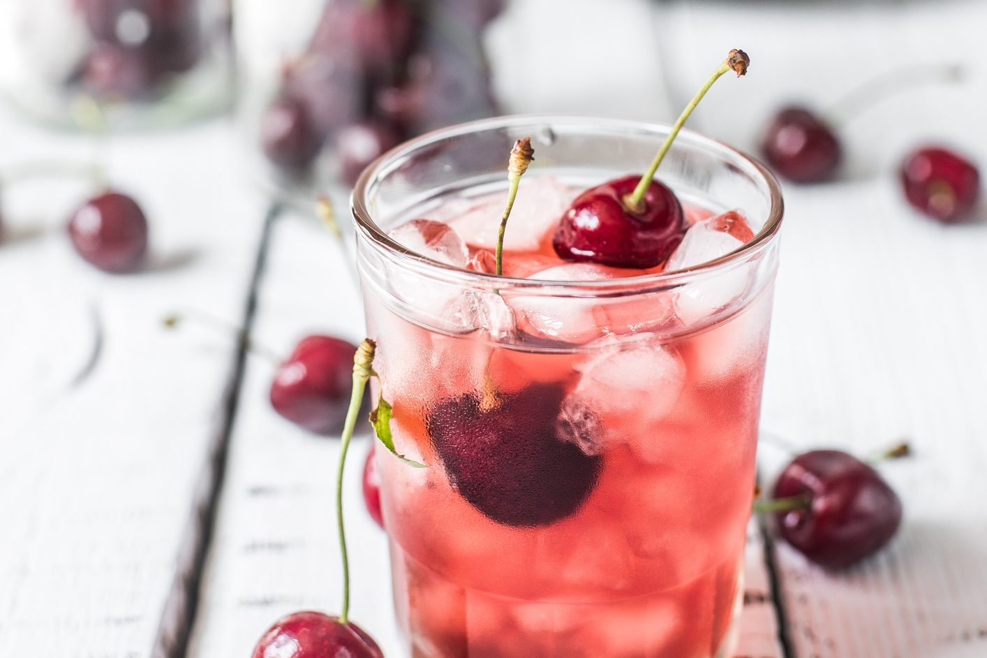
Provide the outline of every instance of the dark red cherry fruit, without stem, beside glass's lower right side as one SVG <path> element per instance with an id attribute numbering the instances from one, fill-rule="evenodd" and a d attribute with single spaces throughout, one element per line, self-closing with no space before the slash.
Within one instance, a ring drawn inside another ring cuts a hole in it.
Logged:
<path id="1" fill-rule="evenodd" d="M 872 555 L 901 524 L 901 501 L 871 466 L 840 451 L 798 455 L 775 498 L 805 496 L 808 509 L 777 514 L 778 532 L 805 557 L 840 569 Z"/>

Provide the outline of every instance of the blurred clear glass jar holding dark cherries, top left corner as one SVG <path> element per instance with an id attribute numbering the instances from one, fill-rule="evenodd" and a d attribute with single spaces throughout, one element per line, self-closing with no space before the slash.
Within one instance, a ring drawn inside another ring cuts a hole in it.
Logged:
<path id="1" fill-rule="evenodd" d="M 184 123 L 227 105 L 230 59 L 229 0 L 0 0 L 0 85 L 42 123 L 92 128 L 80 98 L 112 128 Z"/>

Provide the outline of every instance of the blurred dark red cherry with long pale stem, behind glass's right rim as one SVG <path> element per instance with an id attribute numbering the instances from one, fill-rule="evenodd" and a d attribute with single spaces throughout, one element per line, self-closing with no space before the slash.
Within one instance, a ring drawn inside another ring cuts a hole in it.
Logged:
<path id="1" fill-rule="evenodd" d="M 837 132 L 847 121 L 907 87 L 950 82 L 959 77 L 957 66 L 912 66 L 868 82 L 825 115 L 802 105 L 785 106 L 768 125 L 761 139 L 761 152 L 777 174 L 795 183 L 832 180 L 843 160 L 843 146 Z"/>

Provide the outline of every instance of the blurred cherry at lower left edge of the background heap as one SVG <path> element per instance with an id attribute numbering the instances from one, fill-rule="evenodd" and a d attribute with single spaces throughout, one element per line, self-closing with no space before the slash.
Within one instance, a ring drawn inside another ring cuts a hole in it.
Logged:
<path id="1" fill-rule="evenodd" d="M 267 109 L 261 123 L 267 159 L 292 172 L 307 169 L 322 148 L 323 136 L 299 99 L 283 96 Z"/>

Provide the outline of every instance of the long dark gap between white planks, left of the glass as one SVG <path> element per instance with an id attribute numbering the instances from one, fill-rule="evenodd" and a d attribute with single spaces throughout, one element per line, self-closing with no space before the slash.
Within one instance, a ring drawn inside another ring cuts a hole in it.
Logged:
<path id="1" fill-rule="evenodd" d="M 216 421 L 216 429 L 195 486 L 191 516 L 179 549 L 175 579 L 165 601 L 161 623 L 151 649 L 152 658 L 185 658 L 189 650 L 202 571 L 223 489 L 226 457 L 229 452 L 230 437 L 233 434 L 233 421 L 240 401 L 241 382 L 246 370 L 247 345 L 257 310 L 258 290 L 264 275 L 267 244 L 270 241 L 274 221 L 281 214 L 282 209 L 282 206 L 276 202 L 267 207 L 264 228 L 254 261 L 254 271 L 247 290 L 242 330 L 237 341 L 230 376 L 220 398 L 220 414 Z"/>

